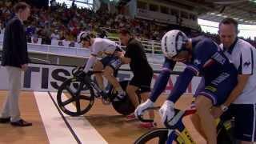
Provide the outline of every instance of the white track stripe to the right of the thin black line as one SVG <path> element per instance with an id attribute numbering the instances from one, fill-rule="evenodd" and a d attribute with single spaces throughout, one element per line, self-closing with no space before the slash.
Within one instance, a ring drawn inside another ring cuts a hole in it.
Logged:
<path id="1" fill-rule="evenodd" d="M 50 93 L 55 102 L 57 93 Z M 63 100 L 65 100 L 66 96 L 63 95 Z M 75 110 L 74 105 L 68 105 L 69 110 Z M 90 125 L 90 122 L 86 120 L 85 117 L 70 117 L 64 114 L 66 120 L 70 123 L 70 126 L 73 128 L 75 134 L 77 134 L 78 138 L 82 143 L 86 144 L 106 144 L 106 140 L 102 138 L 101 134 L 98 134 L 98 131 L 94 129 L 93 126 Z"/>

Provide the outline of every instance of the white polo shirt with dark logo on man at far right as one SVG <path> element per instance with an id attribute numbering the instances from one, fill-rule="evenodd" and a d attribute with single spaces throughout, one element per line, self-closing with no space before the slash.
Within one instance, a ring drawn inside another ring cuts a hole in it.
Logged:
<path id="1" fill-rule="evenodd" d="M 255 104 L 256 103 L 256 49 L 240 38 L 225 50 L 220 45 L 224 54 L 230 59 L 230 62 L 238 69 L 238 74 L 250 74 L 242 94 L 233 102 L 235 104 Z"/>

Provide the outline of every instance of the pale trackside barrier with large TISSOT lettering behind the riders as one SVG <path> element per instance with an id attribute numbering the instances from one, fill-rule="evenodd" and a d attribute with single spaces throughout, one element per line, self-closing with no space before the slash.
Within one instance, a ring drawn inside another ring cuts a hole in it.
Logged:
<path id="1" fill-rule="evenodd" d="M 39 64 L 30 63 L 29 69 L 22 74 L 22 90 L 33 90 L 33 91 L 57 91 L 58 87 L 67 78 L 71 78 L 71 71 L 75 66 L 63 66 L 63 65 L 52 65 L 52 64 Z M 156 78 L 158 78 L 158 73 L 160 71 L 154 71 L 154 77 L 151 82 L 151 87 L 154 86 Z M 174 83 L 180 74 L 178 71 L 172 72 L 169 82 L 166 86 L 165 93 L 170 93 L 173 89 Z M 118 80 L 130 80 L 132 73 L 130 70 L 122 69 L 118 71 Z M 0 90 L 8 90 L 9 82 L 7 79 L 6 69 L 0 66 Z M 194 94 L 198 83 L 200 82 L 199 77 L 194 77 L 190 86 L 186 90 L 187 94 Z M 105 80 L 106 84 L 106 80 Z"/>

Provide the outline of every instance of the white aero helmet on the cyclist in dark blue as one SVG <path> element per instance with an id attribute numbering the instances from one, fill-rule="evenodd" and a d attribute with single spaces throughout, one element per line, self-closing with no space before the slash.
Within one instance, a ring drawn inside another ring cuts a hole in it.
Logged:
<path id="1" fill-rule="evenodd" d="M 188 38 L 181 30 L 170 30 L 161 41 L 162 53 L 166 58 L 173 58 L 179 52 L 184 50 Z"/>

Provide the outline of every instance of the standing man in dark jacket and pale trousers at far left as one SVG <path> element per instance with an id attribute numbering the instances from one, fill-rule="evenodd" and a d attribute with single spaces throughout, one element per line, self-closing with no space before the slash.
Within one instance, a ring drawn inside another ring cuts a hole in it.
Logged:
<path id="1" fill-rule="evenodd" d="M 32 126 L 20 117 L 18 95 L 22 87 L 21 75 L 28 67 L 26 32 L 23 21 L 30 16 L 30 6 L 25 2 L 18 2 L 14 6 L 15 16 L 6 25 L 3 47 L 2 66 L 5 66 L 9 79 L 9 92 L 0 114 L 0 123 L 12 126 Z"/>

